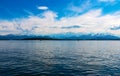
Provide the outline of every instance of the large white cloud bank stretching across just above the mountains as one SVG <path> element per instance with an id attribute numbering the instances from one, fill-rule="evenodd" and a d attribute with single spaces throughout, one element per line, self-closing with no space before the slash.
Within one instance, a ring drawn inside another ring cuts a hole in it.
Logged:
<path id="1" fill-rule="evenodd" d="M 46 35 L 65 32 L 73 33 L 110 33 L 120 36 L 119 14 L 102 15 L 102 10 L 90 10 L 79 16 L 62 17 L 57 19 L 53 11 L 45 11 L 40 16 L 14 19 L 12 21 L 0 20 L 0 34 L 33 34 Z M 111 29 L 111 28 L 114 28 Z"/>

